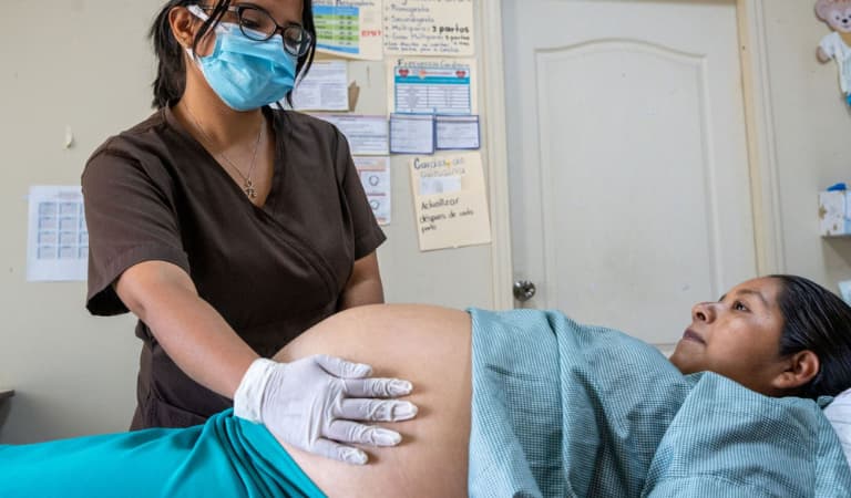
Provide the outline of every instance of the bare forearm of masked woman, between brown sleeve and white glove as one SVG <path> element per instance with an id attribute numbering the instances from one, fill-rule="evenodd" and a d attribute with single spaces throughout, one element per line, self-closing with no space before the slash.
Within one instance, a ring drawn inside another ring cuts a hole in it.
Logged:
<path id="1" fill-rule="evenodd" d="M 171 263 L 146 261 L 126 270 L 115 290 L 184 373 L 233 398 L 257 353 L 198 297 L 185 271 Z"/>

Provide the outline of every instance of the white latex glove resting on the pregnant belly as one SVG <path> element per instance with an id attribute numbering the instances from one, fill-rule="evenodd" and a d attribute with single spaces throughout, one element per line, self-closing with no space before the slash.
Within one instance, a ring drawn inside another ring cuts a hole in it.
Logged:
<path id="1" fill-rule="evenodd" d="M 410 382 L 369 378 L 371 373 L 369 365 L 324 354 L 291 363 L 258 359 L 234 394 L 234 415 L 265 424 L 297 448 L 363 465 L 367 454 L 347 444 L 394 446 L 402 437 L 358 422 L 398 422 L 417 415 L 413 403 L 378 400 L 410 394 Z"/>

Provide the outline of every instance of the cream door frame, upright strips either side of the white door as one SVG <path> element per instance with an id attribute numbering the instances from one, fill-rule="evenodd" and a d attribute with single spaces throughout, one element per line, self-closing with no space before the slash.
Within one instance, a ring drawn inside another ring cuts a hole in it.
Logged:
<path id="1" fill-rule="evenodd" d="M 765 0 L 736 0 L 739 31 L 745 125 L 753 215 L 757 272 L 783 272 L 786 262 L 780 219 L 777 144 L 770 105 L 768 42 Z M 502 1 L 478 0 L 476 23 L 481 27 L 480 89 L 483 101 L 483 149 L 492 229 L 491 264 L 493 307 L 514 308 L 511 292 L 511 206 L 509 197 L 507 134 L 505 132 L 505 72 L 502 54 Z"/>

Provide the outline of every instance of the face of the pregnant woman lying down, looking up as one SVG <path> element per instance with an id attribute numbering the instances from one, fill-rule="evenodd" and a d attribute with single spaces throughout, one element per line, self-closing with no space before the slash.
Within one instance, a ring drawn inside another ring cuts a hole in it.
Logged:
<path id="1" fill-rule="evenodd" d="M 755 279 L 718 302 L 696 304 L 671 363 L 684 374 L 711 371 L 762 394 L 779 394 L 771 381 L 786 369 L 780 356 L 783 315 L 777 302 L 781 290 L 777 279 Z"/>

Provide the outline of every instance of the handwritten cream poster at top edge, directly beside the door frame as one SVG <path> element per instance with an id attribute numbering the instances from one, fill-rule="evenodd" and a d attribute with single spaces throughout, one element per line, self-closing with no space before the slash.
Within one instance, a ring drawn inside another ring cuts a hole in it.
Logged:
<path id="1" fill-rule="evenodd" d="M 474 55 L 473 0 L 385 0 L 385 53 Z"/>

